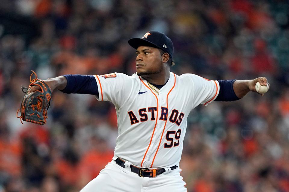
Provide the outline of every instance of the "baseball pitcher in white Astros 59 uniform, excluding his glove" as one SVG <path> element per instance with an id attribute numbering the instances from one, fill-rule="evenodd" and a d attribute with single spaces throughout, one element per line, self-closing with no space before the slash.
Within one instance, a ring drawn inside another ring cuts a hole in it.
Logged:
<path id="1" fill-rule="evenodd" d="M 63 75 L 44 80 L 52 91 L 91 94 L 115 105 L 114 157 L 81 192 L 187 191 L 179 162 L 191 110 L 213 101 L 238 100 L 249 91 L 256 92 L 256 82 L 269 83 L 265 77 L 213 81 L 195 74 L 174 74 L 170 72 L 172 41 L 157 31 L 128 43 L 136 49 L 132 76 Z"/>

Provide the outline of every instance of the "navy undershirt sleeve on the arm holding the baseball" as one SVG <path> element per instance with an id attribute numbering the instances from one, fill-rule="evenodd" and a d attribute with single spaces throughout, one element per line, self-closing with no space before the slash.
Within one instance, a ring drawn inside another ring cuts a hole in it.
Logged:
<path id="1" fill-rule="evenodd" d="M 236 101 L 240 98 L 237 97 L 233 89 L 235 80 L 218 80 L 220 85 L 219 95 L 214 101 Z"/>

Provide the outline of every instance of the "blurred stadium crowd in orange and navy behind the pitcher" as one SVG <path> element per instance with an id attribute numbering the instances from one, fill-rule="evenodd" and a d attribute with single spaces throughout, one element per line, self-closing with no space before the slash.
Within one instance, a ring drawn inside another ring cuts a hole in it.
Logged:
<path id="1" fill-rule="evenodd" d="M 289 191 L 287 0 L 1 0 L 0 192 L 77 192 L 111 161 L 112 104 L 54 91 L 47 124 L 22 125 L 20 87 L 31 70 L 132 75 L 127 40 L 150 30 L 172 39 L 178 75 L 271 84 L 263 97 L 191 112 L 180 162 L 188 192 Z"/>

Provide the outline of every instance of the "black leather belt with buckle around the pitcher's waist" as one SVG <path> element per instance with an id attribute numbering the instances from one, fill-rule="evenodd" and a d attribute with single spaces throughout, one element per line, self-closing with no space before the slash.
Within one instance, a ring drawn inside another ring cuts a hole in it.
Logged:
<path id="1" fill-rule="evenodd" d="M 116 164 L 118 164 L 120 167 L 126 168 L 125 161 L 123 161 L 120 158 L 117 158 L 116 160 L 114 160 L 116 162 Z M 176 169 L 178 166 L 172 166 L 170 167 L 171 170 Z M 160 175 L 162 173 L 164 173 L 166 170 L 164 168 L 161 169 L 148 169 L 148 168 L 144 168 L 144 167 L 135 167 L 133 165 L 130 165 L 130 169 L 133 173 L 138 174 L 138 176 L 140 177 L 155 177 L 157 175 Z"/>

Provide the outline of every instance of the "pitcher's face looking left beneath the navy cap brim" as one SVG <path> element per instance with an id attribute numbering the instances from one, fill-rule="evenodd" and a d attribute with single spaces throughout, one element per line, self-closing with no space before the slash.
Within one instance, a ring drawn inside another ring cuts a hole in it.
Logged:
<path id="1" fill-rule="evenodd" d="M 150 46 L 139 46 L 136 50 L 136 73 L 138 76 L 159 74 L 163 71 L 160 51 Z"/>

